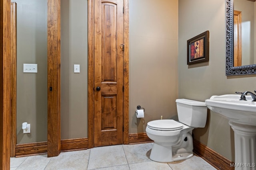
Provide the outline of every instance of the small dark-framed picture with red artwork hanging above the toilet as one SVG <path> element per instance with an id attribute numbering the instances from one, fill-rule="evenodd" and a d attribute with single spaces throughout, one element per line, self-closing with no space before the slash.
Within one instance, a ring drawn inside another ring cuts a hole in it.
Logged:
<path id="1" fill-rule="evenodd" d="M 209 61 L 209 31 L 187 41 L 187 64 Z"/>

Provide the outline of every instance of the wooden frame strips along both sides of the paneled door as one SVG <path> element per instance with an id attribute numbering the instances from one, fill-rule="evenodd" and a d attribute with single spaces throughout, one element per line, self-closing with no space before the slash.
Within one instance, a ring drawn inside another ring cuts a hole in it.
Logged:
<path id="1" fill-rule="evenodd" d="M 124 132 L 129 143 L 129 0 L 124 0 Z M 94 147 L 94 0 L 88 0 L 88 148 Z"/>

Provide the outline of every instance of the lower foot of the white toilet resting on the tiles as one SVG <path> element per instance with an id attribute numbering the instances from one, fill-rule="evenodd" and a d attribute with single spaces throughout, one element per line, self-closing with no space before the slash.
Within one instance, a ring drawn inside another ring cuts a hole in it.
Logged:
<path id="1" fill-rule="evenodd" d="M 172 146 L 163 146 L 154 143 L 151 150 L 150 159 L 156 162 L 174 162 L 178 160 L 185 160 L 191 158 L 192 156 L 193 152 L 172 154 Z"/>

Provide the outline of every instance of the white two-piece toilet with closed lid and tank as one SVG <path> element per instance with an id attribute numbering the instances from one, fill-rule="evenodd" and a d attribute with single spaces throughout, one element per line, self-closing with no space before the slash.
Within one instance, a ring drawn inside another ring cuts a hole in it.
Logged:
<path id="1" fill-rule="evenodd" d="M 177 99 L 179 121 L 172 119 L 148 122 L 146 133 L 154 141 L 150 159 L 157 162 L 173 162 L 193 156 L 192 130 L 204 127 L 207 107 L 204 102 Z"/>

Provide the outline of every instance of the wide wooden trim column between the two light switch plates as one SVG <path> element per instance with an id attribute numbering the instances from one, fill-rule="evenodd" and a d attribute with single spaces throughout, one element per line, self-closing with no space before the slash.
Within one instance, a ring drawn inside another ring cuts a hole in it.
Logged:
<path id="1" fill-rule="evenodd" d="M 48 157 L 60 150 L 60 0 L 48 0 Z"/>

